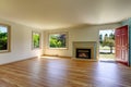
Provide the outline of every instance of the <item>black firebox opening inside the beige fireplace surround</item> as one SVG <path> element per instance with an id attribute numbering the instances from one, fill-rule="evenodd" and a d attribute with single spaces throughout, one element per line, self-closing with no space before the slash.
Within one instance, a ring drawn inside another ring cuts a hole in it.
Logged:
<path id="1" fill-rule="evenodd" d="M 76 49 L 76 58 L 91 59 L 91 49 Z"/>

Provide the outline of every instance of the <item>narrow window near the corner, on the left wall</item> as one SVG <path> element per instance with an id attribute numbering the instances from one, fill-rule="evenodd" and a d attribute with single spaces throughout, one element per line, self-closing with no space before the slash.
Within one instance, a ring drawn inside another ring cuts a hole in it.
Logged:
<path id="1" fill-rule="evenodd" d="M 40 48 L 40 33 L 38 33 L 38 32 L 32 33 L 32 47 L 33 47 L 33 49 Z"/>

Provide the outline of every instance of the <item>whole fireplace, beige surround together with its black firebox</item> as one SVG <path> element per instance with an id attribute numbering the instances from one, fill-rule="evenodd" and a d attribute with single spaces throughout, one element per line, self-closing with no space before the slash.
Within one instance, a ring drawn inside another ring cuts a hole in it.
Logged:
<path id="1" fill-rule="evenodd" d="M 73 41 L 73 58 L 97 60 L 97 42 L 96 41 Z M 78 51 L 79 50 L 79 51 Z M 80 52 L 80 53 L 76 53 Z"/>

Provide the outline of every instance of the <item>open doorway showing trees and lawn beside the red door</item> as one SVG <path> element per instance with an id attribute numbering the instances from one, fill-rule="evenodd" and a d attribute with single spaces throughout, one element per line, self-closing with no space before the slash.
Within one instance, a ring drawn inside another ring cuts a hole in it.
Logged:
<path id="1" fill-rule="evenodd" d="M 99 30 L 99 60 L 115 61 L 115 29 Z"/>

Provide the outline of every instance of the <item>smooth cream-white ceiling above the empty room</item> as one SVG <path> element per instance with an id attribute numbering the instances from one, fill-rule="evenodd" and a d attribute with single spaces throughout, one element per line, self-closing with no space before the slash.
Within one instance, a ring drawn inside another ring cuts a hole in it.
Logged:
<path id="1" fill-rule="evenodd" d="M 0 17 L 40 29 L 120 22 L 131 0 L 0 0 Z"/>

